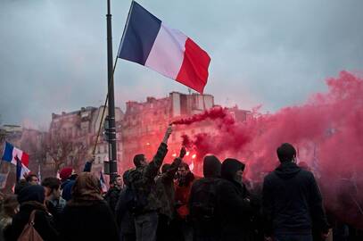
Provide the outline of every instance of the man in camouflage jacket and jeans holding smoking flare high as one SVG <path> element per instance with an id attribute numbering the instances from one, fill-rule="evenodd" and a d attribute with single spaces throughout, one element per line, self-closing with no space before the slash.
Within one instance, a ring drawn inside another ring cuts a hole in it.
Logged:
<path id="1" fill-rule="evenodd" d="M 154 179 L 168 153 L 167 143 L 171 131 L 171 126 L 169 126 L 152 162 L 147 164 L 144 154 L 136 154 L 134 157 L 136 170 L 128 173 L 128 182 L 135 194 L 136 201 L 134 215 L 137 241 L 156 240 L 158 210 L 161 208 L 161 203 L 156 194 Z"/>

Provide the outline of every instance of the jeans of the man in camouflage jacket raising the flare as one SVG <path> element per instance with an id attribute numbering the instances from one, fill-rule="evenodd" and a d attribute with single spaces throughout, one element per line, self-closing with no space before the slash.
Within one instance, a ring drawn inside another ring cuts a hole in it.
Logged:
<path id="1" fill-rule="evenodd" d="M 135 217 L 136 241 L 156 241 L 158 213 L 146 212 Z"/>

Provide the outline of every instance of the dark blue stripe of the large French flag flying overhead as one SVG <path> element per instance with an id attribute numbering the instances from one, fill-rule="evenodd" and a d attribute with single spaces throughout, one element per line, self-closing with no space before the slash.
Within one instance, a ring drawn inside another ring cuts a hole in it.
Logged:
<path id="1" fill-rule="evenodd" d="M 161 20 L 132 1 L 118 57 L 144 65 L 160 28 Z"/>

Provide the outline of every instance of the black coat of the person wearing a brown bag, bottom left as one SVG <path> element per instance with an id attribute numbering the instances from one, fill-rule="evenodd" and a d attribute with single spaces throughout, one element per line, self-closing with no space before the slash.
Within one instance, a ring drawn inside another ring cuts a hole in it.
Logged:
<path id="1" fill-rule="evenodd" d="M 45 241 L 59 240 L 58 232 L 54 229 L 53 218 L 45 211 L 45 206 L 35 201 L 30 201 L 21 204 L 20 211 L 13 217 L 12 226 L 6 232 L 9 235 L 5 237 L 6 241 L 18 240 L 25 225 L 29 222 L 30 213 L 33 210 L 37 210 L 34 228 L 40 237 Z"/>

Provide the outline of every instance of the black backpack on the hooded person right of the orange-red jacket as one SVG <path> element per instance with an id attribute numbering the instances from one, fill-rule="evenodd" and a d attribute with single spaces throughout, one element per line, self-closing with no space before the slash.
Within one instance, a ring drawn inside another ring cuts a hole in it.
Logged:
<path id="1" fill-rule="evenodd" d="M 217 186 L 220 179 L 201 179 L 193 190 L 190 203 L 190 215 L 194 221 L 210 222 L 216 220 L 217 210 Z"/>

